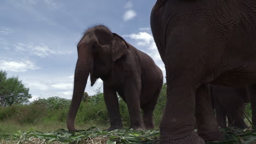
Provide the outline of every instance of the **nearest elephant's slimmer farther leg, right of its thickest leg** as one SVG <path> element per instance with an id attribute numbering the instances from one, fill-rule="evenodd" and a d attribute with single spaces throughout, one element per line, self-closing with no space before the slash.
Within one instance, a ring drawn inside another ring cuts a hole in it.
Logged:
<path id="1" fill-rule="evenodd" d="M 196 91 L 195 117 L 197 134 L 205 141 L 220 141 L 223 135 L 212 110 L 210 92 L 206 84 L 201 85 Z"/>

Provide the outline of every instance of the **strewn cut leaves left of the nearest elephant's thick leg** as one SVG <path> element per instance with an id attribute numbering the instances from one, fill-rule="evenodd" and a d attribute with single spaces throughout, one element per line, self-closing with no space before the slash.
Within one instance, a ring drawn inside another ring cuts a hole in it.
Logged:
<path id="1" fill-rule="evenodd" d="M 156 143 L 158 130 L 112 130 L 102 131 L 96 127 L 78 132 L 59 129 L 54 133 L 39 131 L 18 131 L 15 135 L 0 135 L 0 143 Z"/>

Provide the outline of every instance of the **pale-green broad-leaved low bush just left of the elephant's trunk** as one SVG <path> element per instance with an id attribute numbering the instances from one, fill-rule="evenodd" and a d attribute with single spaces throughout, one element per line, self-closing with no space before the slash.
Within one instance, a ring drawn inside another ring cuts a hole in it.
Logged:
<path id="1" fill-rule="evenodd" d="M 48 99 L 35 100 L 33 104 L 44 105 L 49 109 L 63 109 L 71 104 L 71 100 L 59 97 L 50 97 Z"/>

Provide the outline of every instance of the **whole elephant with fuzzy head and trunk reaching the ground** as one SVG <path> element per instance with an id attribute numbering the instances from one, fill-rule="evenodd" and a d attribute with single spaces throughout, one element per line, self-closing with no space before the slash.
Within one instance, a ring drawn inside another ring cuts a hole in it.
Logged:
<path id="1" fill-rule="evenodd" d="M 77 51 L 74 90 L 67 116 L 68 130 L 77 130 L 74 127 L 75 115 L 89 74 L 91 86 L 99 78 L 103 81 L 103 97 L 110 121 L 108 130 L 123 127 L 117 93 L 127 104 L 131 128 L 154 128 L 153 110 L 161 91 L 163 75 L 153 59 L 104 25 L 89 28 L 80 39 Z"/>

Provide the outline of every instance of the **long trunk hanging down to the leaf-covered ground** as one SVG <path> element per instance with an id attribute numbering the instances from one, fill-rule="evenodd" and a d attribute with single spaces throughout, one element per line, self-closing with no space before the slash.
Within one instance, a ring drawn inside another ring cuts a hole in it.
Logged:
<path id="1" fill-rule="evenodd" d="M 73 97 L 71 101 L 71 106 L 68 112 L 67 117 L 67 128 L 69 131 L 77 131 L 74 127 L 75 116 L 77 115 L 77 111 L 81 100 L 83 98 L 84 90 L 86 87 L 86 83 L 88 80 L 89 73 L 92 68 L 92 62 L 88 59 L 79 59 L 77 61 L 77 65 L 75 67 L 74 74 L 74 90 Z"/>

